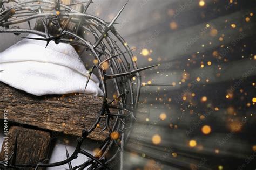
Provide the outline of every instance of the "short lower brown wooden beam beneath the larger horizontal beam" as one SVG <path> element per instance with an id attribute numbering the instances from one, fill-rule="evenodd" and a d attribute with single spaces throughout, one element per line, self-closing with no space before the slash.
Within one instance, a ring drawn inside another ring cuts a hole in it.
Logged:
<path id="1" fill-rule="evenodd" d="M 49 149 L 51 144 L 51 135 L 49 132 L 41 130 L 33 130 L 18 126 L 11 126 L 8 132 L 8 151 L 4 151 L 4 145 L 2 145 L 1 159 L 3 159 L 4 152 L 8 153 L 8 158 L 14 152 L 15 140 L 17 134 L 17 154 L 16 164 L 42 162 L 48 159 Z M 12 157 L 14 159 L 14 157 Z M 10 163 L 12 162 L 10 160 Z M 24 168 L 33 169 L 33 168 Z M 45 168 L 40 168 L 45 169 Z"/>

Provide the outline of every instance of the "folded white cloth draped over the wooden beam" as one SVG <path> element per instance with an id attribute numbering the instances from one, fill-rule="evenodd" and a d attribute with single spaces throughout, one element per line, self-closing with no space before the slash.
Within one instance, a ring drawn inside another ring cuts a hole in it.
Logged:
<path id="1" fill-rule="evenodd" d="M 28 37 L 42 38 L 30 34 Z M 85 93 L 103 96 L 99 80 L 88 73 L 75 49 L 69 44 L 23 39 L 0 53 L 0 81 L 27 93 Z"/>

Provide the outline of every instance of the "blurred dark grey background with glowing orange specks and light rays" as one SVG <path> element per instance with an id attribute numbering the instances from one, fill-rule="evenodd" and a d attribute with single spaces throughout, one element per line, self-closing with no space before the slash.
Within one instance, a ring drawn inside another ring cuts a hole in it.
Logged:
<path id="1" fill-rule="evenodd" d="M 124 0 L 89 8 L 110 21 Z M 124 169 L 255 169 L 255 1 L 130 0 L 116 29 L 142 73 Z M 21 36 L 0 34 L 0 51 Z M 22 35 L 24 36 L 24 35 Z M 86 58 L 86 56 L 84 56 Z"/>

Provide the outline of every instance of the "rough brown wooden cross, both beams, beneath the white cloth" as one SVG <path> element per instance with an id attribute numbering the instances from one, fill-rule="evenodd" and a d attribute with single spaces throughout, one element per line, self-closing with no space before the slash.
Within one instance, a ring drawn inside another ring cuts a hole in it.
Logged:
<path id="1" fill-rule="evenodd" d="M 89 129 L 96 121 L 103 103 L 102 97 L 79 93 L 34 96 L 2 82 L 0 93 L 1 121 L 6 117 L 4 112 L 8 112 L 9 158 L 17 138 L 16 164 L 37 163 L 49 158 L 55 134 L 80 136 L 83 128 Z M 99 123 L 88 138 L 103 141 L 109 135 L 107 131 L 98 134 L 103 126 L 104 123 Z M 4 145 L 0 160 L 3 160 Z"/>

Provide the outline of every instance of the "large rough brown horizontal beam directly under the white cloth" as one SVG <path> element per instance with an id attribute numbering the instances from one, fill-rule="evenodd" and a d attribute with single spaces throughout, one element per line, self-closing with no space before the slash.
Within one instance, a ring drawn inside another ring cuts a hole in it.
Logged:
<path id="1" fill-rule="evenodd" d="M 96 121 L 103 98 L 85 94 L 34 96 L 0 82 L 0 108 L 8 111 L 8 121 L 32 125 L 64 134 L 80 136 Z M 0 119 L 3 119 L 1 114 Z M 105 121 L 105 118 L 102 118 Z M 105 122 L 88 138 L 102 141 L 108 135 L 100 132 Z"/>

